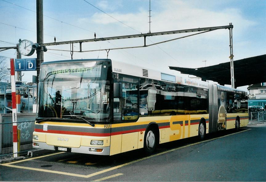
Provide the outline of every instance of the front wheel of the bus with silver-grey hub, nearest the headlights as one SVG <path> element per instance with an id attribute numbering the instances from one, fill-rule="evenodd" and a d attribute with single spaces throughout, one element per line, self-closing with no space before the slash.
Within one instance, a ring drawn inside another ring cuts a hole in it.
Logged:
<path id="1" fill-rule="evenodd" d="M 157 136 L 154 128 L 148 128 L 144 135 L 144 152 L 151 154 L 154 152 L 157 144 Z"/>

